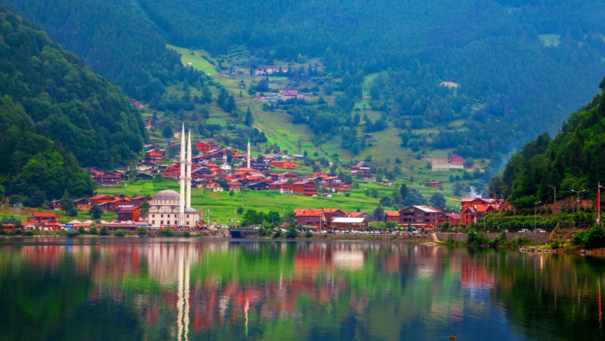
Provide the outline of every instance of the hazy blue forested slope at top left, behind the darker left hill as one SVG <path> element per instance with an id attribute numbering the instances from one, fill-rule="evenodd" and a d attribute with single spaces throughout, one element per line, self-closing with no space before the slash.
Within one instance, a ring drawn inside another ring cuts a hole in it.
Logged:
<path id="1" fill-rule="evenodd" d="M 165 85 L 200 77 L 166 48 L 162 32 L 140 15 L 136 1 L 2 1 L 135 99 L 159 101 Z"/>

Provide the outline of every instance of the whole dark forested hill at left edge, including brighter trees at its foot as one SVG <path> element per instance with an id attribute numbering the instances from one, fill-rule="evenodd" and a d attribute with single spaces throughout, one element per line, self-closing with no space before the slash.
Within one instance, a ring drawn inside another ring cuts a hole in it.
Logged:
<path id="1" fill-rule="evenodd" d="M 32 23 L 0 4 L 0 184 L 40 200 L 91 194 L 79 165 L 127 163 L 141 152 L 141 114 Z"/>

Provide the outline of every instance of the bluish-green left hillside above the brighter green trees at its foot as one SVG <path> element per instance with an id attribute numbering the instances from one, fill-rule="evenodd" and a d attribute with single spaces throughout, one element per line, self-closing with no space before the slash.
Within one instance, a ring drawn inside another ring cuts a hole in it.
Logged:
<path id="1" fill-rule="evenodd" d="M 21 103 L 36 131 L 61 141 L 83 166 L 125 163 L 139 153 L 145 127 L 119 87 L 0 8 L 0 94 Z"/>

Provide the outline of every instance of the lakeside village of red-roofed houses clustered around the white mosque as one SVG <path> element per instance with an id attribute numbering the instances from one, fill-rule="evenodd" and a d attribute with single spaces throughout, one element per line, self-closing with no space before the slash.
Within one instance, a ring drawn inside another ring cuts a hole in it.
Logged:
<path id="1" fill-rule="evenodd" d="M 298 171 L 298 161 L 305 156 L 263 154 L 252 161 L 250 143 L 247 153 L 242 154 L 233 147 L 219 149 L 212 141 L 201 140 L 189 143 L 185 153 L 185 134 L 181 136 L 181 159 L 167 158 L 168 149 L 176 149 L 175 142 L 169 142 L 164 149 L 157 144 L 145 145 L 145 158 L 136 171 L 114 170 L 104 172 L 99 167 L 88 167 L 86 170 L 99 187 L 127 186 L 130 180 L 156 181 L 180 180 L 181 194 L 172 190 L 162 190 L 154 196 L 128 196 L 127 194 L 98 194 L 90 198 L 78 198 L 72 205 L 79 211 L 99 211 L 112 214 L 114 219 L 108 220 L 71 220 L 60 223 L 59 216 L 54 213 L 33 213 L 24 224 L 25 229 L 57 231 L 64 229 L 90 229 L 95 225 L 104 225 L 108 229 L 136 230 L 139 227 L 161 230 L 196 231 L 201 229 L 216 229 L 216 221 L 209 217 L 205 219 L 203 207 L 198 211 L 191 207 L 192 188 L 209 192 L 258 192 L 274 191 L 280 194 L 306 197 L 343 195 L 348 196 L 353 188 L 353 178 L 376 181 L 373 178 L 371 166 L 358 163 L 350 167 L 348 174 L 332 174 L 330 172 L 313 172 L 310 176 Z M 196 156 L 192 156 L 192 151 Z M 185 155 L 187 158 L 185 158 Z M 462 156 L 454 155 L 447 163 L 462 165 Z M 181 172 L 181 167 L 183 171 Z M 185 170 L 186 167 L 186 170 Z M 186 175 L 186 176 L 185 176 Z M 388 180 L 387 180 L 388 183 Z M 388 183 L 392 185 L 392 183 Z M 442 190 L 440 181 L 429 181 L 422 184 L 425 187 Z M 185 198 L 185 193 L 187 198 Z M 61 210 L 62 199 L 52 200 L 46 209 Z M 183 209 L 179 206 L 183 203 Z M 380 229 L 388 225 L 389 230 L 404 229 L 407 231 L 433 231 L 447 224 L 448 227 L 469 226 L 477 223 L 486 214 L 498 211 L 502 200 L 466 198 L 462 199 L 458 210 L 444 211 L 445 207 L 435 208 L 428 205 L 411 205 L 399 211 L 383 211 L 376 216 L 371 211 L 345 211 L 335 208 L 294 209 L 291 221 L 283 221 L 280 227 L 296 225 L 302 229 L 312 230 L 367 230 Z M 186 206 L 186 208 L 185 208 Z M 185 213 L 187 213 L 185 220 Z M 206 212 L 209 214 L 209 211 Z M 189 216 L 191 214 L 191 216 Z M 181 218 L 183 217 L 183 218 Z M 378 224 L 378 225 L 377 225 Z M 236 227 L 237 221 L 232 220 L 231 227 Z M 12 229 L 12 224 L 3 224 L 2 229 Z M 227 227 L 223 224 L 222 227 Z"/>

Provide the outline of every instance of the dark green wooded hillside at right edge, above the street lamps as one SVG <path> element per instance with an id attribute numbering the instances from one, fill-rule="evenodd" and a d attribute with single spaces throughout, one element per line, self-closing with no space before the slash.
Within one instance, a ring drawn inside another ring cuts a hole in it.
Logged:
<path id="1" fill-rule="evenodd" d="M 493 179 L 492 187 L 517 207 L 552 203 L 553 187 L 557 198 L 573 194 L 572 189 L 594 198 L 598 182 L 605 184 L 605 79 L 599 87 L 602 92 L 568 116 L 554 139 L 541 134 L 513 154 L 502 180 Z"/>

